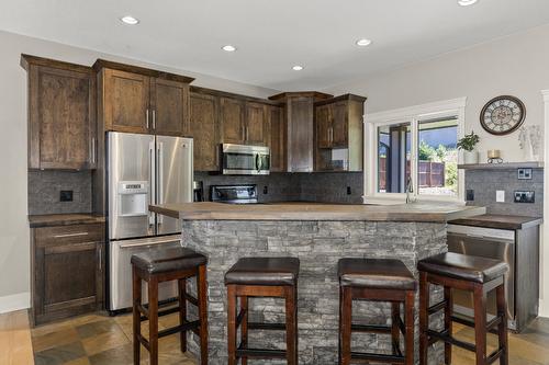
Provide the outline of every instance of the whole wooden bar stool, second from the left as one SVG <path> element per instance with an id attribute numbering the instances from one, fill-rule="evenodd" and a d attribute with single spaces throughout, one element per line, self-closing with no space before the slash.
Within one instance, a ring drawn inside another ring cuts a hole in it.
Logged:
<path id="1" fill-rule="evenodd" d="M 300 260 L 295 258 L 245 258 L 225 273 L 227 287 L 228 365 L 242 358 L 285 358 L 298 365 L 298 275 Z M 285 323 L 248 322 L 248 297 L 280 297 L 285 299 Z M 238 316 L 237 298 L 240 298 Z M 240 328 L 240 344 L 236 331 Z M 248 330 L 285 330 L 284 350 L 248 347 Z"/>

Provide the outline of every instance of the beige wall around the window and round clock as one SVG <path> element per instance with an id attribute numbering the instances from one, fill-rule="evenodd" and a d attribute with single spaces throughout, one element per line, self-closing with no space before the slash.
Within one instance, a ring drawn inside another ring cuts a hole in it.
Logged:
<path id="1" fill-rule="evenodd" d="M 467 96 L 466 133 L 474 129 L 480 135 L 481 160 L 486 158 L 486 150 L 501 149 L 504 160 L 524 161 L 518 133 L 492 136 L 480 126 L 479 114 L 490 99 L 512 94 L 526 104 L 525 125 L 544 126 L 541 90 L 549 89 L 548 45 L 546 25 L 323 91 L 366 95 L 367 113 Z M 546 210 L 548 185 L 546 180 Z M 542 236 L 549 237 L 549 225 L 545 226 Z M 541 244 L 540 264 L 540 315 L 549 317 L 549 244 Z"/>

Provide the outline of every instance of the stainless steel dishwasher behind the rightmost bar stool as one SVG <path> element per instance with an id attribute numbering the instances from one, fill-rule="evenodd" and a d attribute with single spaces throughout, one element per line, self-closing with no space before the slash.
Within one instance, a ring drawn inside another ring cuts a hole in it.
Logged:
<path id="1" fill-rule="evenodd" d="M 515 287 L 516 275 L 516 242 L 515 231 L 484 227 L 448 225 L 448 250 L 450 252 L 470 254 L 504 261 L 509 265 L 505 275 L 505 294 L 507 299 L 507 318 L 511 329 L 516 330 Z M 495 290 L 488 295 L 489 319 L 496 313 Z M 472 294 L 453 290 L 453 310 L 468 317 L 473 315 Z"/>

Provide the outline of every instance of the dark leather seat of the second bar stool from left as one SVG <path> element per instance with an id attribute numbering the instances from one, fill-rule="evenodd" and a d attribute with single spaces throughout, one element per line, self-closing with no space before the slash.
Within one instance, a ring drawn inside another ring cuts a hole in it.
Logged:
<path id="1" fill-rule="evenodd" d="M 295 285 L 300 260 L 295 258 L 244 258 L 225 274 L 225 285 Z"/>

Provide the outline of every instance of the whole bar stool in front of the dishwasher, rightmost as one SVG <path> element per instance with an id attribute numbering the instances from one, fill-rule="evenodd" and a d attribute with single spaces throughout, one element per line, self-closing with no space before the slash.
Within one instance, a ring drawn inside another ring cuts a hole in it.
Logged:
<path id="1" fill-rule="evenodd" d="M 427 347 L 437 342 L 445 342 L 445 362 L 451 362 L 451 345 L 469 350 L 477 354 L 477 365 L 492 364 L 500 358 L 500 364 L 508 363 L 507 346 L 507 305 L 505 303 L 504 275 L 508 265 L 497 260 L 471 256 L 459 253 L 441 253 L 421 260 L 419 270 L 419 364 L 427 364 Z M 429 284 L 444 286 L 442 301 L 429 307 Z M 451 289 L 469 290 L 473 294 L 474 322 L 452 317 Z M 486 322 L 486 294 L 496 290 L 497 316 Z M 445 311 L 442 331 L 429 329 L 429 315 Z M 452 320 L 474 328 L 475 343 L 470 344 L 452 337 Z M 486 333 L 497 327 L 498 349 L 486 356 Z"/>

